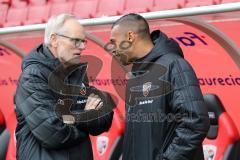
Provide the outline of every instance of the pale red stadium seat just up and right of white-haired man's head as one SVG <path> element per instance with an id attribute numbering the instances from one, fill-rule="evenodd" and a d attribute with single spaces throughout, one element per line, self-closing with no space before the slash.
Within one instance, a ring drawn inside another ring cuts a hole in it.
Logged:
<path id="1" fill-rule="evenodd" d="M 79 0 L 73 7 L 73 14 L 78 18 L 93 18 L 97 12 L 97 0 Z"/>

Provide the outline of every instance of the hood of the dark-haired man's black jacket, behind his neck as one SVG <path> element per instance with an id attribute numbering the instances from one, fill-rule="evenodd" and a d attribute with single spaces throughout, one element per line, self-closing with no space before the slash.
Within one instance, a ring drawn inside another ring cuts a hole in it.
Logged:
<path id="1" fill-rule="evenodd" d="M 149 54 L 138 59 L 136 62 L 154 61 L 154 59 L 158 59 L 162 55 L 169 53 L 178 54 L 179 56 L 184 57 L 179 44 L 174 39 L 168 38 L 168 36 L 160 30 L 153 31 L 151 33 L 151 39 L 154 44 L 153 49 L 150 51 Z"/>

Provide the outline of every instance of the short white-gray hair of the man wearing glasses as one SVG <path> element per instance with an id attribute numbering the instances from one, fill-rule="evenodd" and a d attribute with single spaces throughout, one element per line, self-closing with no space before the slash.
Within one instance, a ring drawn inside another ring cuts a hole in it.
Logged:
<path id="1" fill-rule="evenodd" d="M 45 34 L 44 34 L 44 44 L 50 44 L 50 37 L 53 33 L 62 33 L 63 32 L 63 25 L 66 20 L 68 19 L 76 19 L 75 16 L 71 14 L 59 14 L 57 16 L 51 17 L 45 27 Z"/>

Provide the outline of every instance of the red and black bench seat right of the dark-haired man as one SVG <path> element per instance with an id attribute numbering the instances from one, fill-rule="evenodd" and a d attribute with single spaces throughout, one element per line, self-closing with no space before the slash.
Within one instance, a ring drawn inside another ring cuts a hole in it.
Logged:
<path id="1" fill-rule="evenodd" d="M 239 156 L 239 152 L 237 153 L 236 148 L 239 146 L 240 137 L 233 120 L 216 95 L 204 95 L 204 101 L 210 118 L 210 128 L 203 142 L 204 158 L 238 159 L 236 157 Z"/>

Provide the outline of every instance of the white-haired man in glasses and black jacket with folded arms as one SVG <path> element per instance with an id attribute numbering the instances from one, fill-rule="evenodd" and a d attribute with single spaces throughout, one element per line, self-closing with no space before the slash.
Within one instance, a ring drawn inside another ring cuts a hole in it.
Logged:
<path id="1" fill-rule="evenodd" d="M 96 92 L 87 93 L 86 64 L 79 62 L 85 45 L 84 28 L 78 20 L 61 14 L 48 21 L 44 44 L 24 58 L 15 95 L 17 159 L 93 159 L 89 134 L 107 131 L 113 112 L 96 119 L 81 117 L 104 107 Z M 80 121 L 71 115 L 77 112 L 83 113 L 78 116 Z"/>

